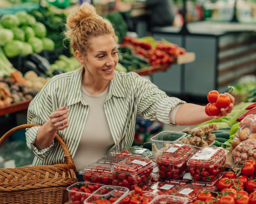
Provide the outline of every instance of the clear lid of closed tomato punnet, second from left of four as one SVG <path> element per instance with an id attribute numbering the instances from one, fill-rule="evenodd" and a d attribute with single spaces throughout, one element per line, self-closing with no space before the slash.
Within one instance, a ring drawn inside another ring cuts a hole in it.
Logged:
<path id="1" fill-rule="evenodd" d="M 151 159 L 134 155 L 118 162 L 111 167 L 111 170 L 113 173 L 123 173 L 128 176 L 136 177 L 145 173 L 145 171 L 150 171 L 151 173 L 153 166 L 154 162 Z"/>

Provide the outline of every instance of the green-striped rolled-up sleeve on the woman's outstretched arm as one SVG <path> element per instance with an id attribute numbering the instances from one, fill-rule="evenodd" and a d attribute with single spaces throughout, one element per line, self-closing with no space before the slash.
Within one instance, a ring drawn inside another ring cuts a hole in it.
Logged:
<path id="1" fill-rule="evenodd" d="M 178 104 L 186 103 L 179 98 L 169 97 L 148 79 L 137 76 L 136 94 L 139 101 L 137 114 L 151 121 L 176 126 L 170 123 L 169 113 Z"/>

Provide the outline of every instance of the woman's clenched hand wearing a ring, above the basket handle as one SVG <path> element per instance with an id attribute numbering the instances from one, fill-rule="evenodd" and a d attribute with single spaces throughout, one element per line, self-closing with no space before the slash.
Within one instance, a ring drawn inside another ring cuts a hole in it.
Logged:
<path id="1" fill-rule="evenodd" d="M 55 130 L 63 130 L 69 127 L 69 120 L 68 120 L 68 112 L 69 110 L 64 107 L 58 108 L 55 112 L 50 114 L 50 124 L 51 127 Z M 61 121 L 64 125 L 61 124 Z"/>

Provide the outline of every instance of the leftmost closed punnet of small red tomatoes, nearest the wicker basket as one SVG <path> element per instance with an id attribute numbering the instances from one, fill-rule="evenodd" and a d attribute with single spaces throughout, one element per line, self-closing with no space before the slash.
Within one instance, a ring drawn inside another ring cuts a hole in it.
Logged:
<path id="1" fill-rule="evenodd" d="M 102 183 L 106 185 L 112 184 L 112 164 L 90 163 L 79 174 L 83 175 L 84 181 L 91 183 Z"/>

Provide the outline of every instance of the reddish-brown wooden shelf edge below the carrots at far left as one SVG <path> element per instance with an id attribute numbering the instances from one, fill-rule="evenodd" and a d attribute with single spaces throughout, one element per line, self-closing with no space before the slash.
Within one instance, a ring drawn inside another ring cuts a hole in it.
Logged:
<path id="1" fill-rule="evenodd" d="M 0 116 L 4 116 L 10 113 L 15 113 L 21 110 L 27 110 L 29 107 L 29 103 L 31 101 L 32 99 L 28 99 L 28 100 L 12 103 L 11 105 L 8 105 L 8 106 L 4 106 L 0 108 Z"/>

